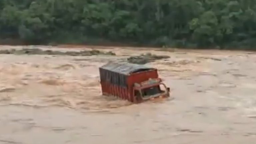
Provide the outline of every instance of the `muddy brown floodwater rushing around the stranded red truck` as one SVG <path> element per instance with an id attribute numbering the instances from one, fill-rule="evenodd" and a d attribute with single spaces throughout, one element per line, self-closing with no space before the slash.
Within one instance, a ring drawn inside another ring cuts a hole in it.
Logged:
<path id="1" fill-rule="evenodd" d="M 22 47 L 0 47 L 11 48 Z M 255 143 L 256 53 L 99 50 L 116 56 L 0 55 L 0 144 Z M 148 52 L 170 56 L 147 64 L 159 69 L 170 99 L 101 95 L 99 66 Z"/>

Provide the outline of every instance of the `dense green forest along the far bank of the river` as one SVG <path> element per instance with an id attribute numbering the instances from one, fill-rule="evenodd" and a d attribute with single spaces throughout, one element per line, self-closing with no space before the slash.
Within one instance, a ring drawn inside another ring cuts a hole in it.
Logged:
<path id="1" fill-rule="evenodd" d="M 255 49 L 255 0 L 0 0 L 0 39 Z"/>

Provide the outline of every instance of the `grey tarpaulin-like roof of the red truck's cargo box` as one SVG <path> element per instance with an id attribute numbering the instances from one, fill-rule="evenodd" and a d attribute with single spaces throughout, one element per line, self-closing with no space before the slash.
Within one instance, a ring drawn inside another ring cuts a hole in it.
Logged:
<path id="1" fill-rule="evenodd" d="M 136 72 L 143 72 L 155 69 L 151 67 L 146 67 L 144 65 L 131 64 L 127 62 L 109 62 L 101 66 L 100 68 L 123 75 L 130 75 Z"/>

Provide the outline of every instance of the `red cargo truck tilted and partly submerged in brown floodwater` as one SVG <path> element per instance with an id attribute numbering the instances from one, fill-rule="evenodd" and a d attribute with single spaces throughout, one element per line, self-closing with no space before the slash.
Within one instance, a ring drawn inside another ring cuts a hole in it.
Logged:
<path id="1" fill-rule="evenodd" d="M 158 77 L 157 69 L 126 62 L 109 62 L 99 68 L 103 95 L 133 103 L 169 97 L 170 88 Z"/>

